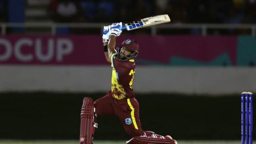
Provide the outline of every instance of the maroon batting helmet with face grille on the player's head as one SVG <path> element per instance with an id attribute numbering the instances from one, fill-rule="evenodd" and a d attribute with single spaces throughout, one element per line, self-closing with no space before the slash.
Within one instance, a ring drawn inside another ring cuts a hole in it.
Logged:
<path id="1" fill-rule="evenodd" d="M 131 54 L 129 56 L 121 56 L 121 48 L 128 48 L 131 50 Z M 139 54 L 139 44 L 134 39 L 126 39 L 121 43 L 119 47 L 116 48 L 117 58 L 119 60 L 131 60 L 136 58 L 136 56 Z"/>

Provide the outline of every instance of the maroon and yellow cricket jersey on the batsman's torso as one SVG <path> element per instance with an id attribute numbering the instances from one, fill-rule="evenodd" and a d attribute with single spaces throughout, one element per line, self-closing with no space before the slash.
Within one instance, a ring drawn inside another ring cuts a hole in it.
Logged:
<path id="1" fill-rule="evenodd" d="M 133 79 L 135 75 L 135 61 L 122 61 L 111 56 L 112 66 L 112 96 L 116 99 L 134 98 Z"/>

